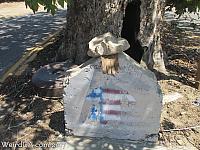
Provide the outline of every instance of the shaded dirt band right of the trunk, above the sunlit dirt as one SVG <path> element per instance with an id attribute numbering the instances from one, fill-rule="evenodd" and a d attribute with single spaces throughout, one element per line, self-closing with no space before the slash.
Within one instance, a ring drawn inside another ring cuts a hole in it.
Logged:
<path id="1" fill-rule="evenodd" d="M 197 60 L 200 58 L 199 37 L 199 33 L 164 24 L 162 47 L 166 53 L 166 68 L 169 75 L 155 71 L 159 80 L 172 79 L 196 87 Z"/>

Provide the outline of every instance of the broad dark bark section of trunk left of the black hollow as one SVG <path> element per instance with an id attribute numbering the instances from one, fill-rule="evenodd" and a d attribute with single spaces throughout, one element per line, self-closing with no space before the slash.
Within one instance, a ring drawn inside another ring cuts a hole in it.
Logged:
<path id="1" fill-rule="evenodd" d="M 63 59 L 81 64 L 88 59 L 89 41 L 111 32 L 120 36 L 124 0 L 73 0 L 68 6 Z"/>

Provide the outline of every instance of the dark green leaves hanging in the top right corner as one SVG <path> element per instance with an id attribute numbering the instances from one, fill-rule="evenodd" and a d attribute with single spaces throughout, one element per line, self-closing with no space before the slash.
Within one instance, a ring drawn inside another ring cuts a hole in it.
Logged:
<path id="1" fill-rule="evenodd" d="M 173 7 L 176 8 L 176 14 L 182 15 L 188 10 L 189 12 L 196 12 L 197 8 L 200 9 L 200 0 L 167 0 L 168 10 Z"/>

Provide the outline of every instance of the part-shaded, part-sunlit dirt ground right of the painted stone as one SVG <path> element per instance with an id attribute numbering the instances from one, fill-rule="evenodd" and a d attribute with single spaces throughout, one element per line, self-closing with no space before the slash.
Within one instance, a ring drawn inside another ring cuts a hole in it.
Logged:
<path id="1" fill-rule="evenodd" d="M 162 35 L 170 75 L 161 75 L 159 84 L 164 95 L 178 92 L 183 97 L 164 105 L 159 141 L 166 145 L 193 145 L 200 149 L 200 106 L 192 103 L 200 98 L 200 91 L 194 88 L 200 55 L 200 35 L 169 24 L 165 24 Z M 184 129 L 188 127 L 194 128 Z M 170 129 L 181 130 L 162 132 Z"/>

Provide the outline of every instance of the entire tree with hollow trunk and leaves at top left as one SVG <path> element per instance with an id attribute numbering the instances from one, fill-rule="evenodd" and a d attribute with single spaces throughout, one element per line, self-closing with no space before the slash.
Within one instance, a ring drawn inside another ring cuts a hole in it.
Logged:
<path id="1" fill-rule="evenodd" d="M 88 59 L 88 42 L 95 36 L 111 32 L 130 44 L 129 54 L 141 58 L 149 69 L 165 72 L 160 29 L 165 0 L 25 0 L 33 12 L 39 5 L 56 13 L 57 6 L 67 3 L 64 48 L 60 60 L 81 64 Z"/>

